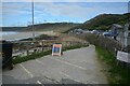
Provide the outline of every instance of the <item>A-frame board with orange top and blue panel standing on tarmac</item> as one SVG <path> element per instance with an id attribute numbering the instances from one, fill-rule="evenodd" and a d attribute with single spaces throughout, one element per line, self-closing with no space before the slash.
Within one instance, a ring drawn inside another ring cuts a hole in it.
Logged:
<path id="1" fill-rule="evenodd" d="M 61 55 L 62 55 L 62 44 L 53 44 L 52 56 L 61 56 Z"/>

